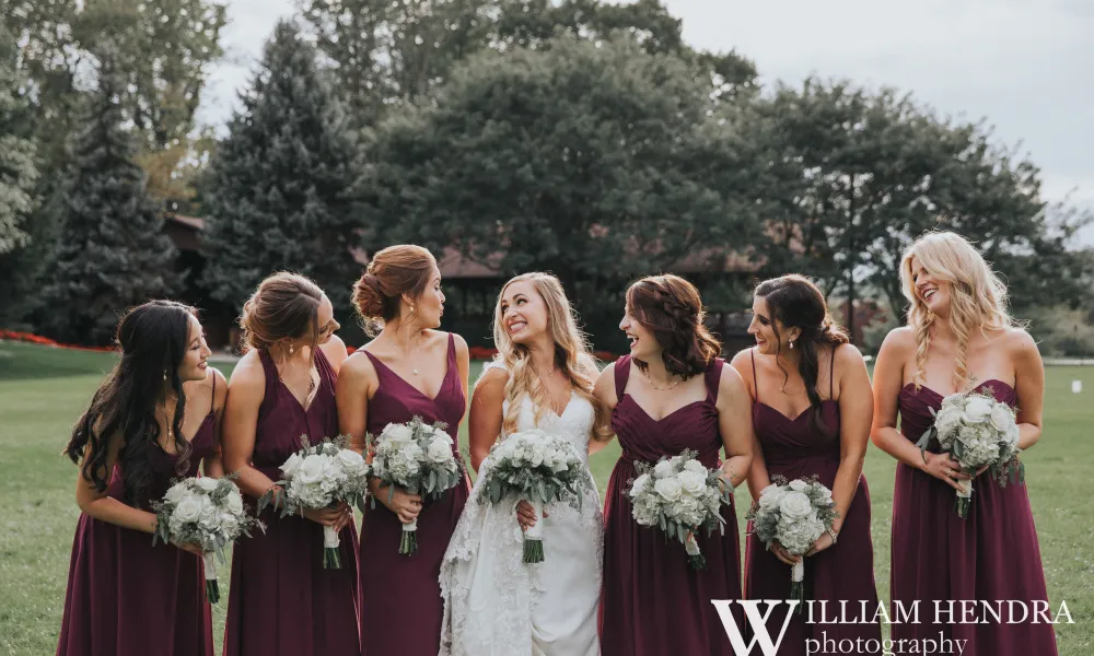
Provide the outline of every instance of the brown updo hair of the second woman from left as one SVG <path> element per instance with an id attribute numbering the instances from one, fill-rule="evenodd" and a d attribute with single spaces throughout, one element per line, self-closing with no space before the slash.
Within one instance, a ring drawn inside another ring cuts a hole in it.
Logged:
<path id="1" fill-rule="evenodd" d="M 312 331 L 312 353 L 319 341 L 319 305 L 323 290 L 299 273 L 281 271 L 258 283 L 243 304 L 240 327 L 244 350 L 269 350 L 286 338 Z"/>

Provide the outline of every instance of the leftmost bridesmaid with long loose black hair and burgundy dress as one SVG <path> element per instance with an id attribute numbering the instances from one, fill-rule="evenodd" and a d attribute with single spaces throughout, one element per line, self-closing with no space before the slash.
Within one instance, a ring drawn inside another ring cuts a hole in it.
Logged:
<path id="1" fill-rule="evenodd" d="M 201 550 L 152 546 L 171 480 L 220 477 L 228 386 L 207 364 L 194 308 L 152 301 L 118 325 L 121 361 L 92 397 L 65 453 L 80 464 L 83 513 L 69 565 L 58 656 L 212 656 Z"/>

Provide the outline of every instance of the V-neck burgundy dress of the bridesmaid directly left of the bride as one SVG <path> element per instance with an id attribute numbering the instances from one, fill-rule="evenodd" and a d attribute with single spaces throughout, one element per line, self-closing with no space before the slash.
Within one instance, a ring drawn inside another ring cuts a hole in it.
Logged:
<path id="1" fill-rule="evenodd" d="M 372 360 L 380 378 L 369 401 L 368 430 L 380 435 L 389 423 L 405 423 L 418 415 L 427 423 L 443 421 L 452 436 L 452 453 L 458 449 L 459 420 L 467 400 L 459 384 L 456 344 L 449 335 L 447 372 L 435 398 L 429 398 L 400 378 L 379 358 Z M 361 587 L 366 589 L 361 613 L 361 642 L 365 656 L 437 656 L 441 648 L 441 560 L 452 531 L 467 503 L 470 483 L 449 490 L 440 500 L 423 500 L 418 515 L 418 552 L 399 554 L 403 523 L 387 506 L 376 502 L 364 513 L 361 527 Z"/>

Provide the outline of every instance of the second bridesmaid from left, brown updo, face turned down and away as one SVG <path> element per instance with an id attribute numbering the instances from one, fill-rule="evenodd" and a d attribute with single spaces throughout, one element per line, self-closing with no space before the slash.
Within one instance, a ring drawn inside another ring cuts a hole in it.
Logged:
<path id="1" fill-rule="evenodd" d="M 232 373 L 224 465 L 252 501 L 302 446 L 338 434 L 335 380 L 346 344 L 326 294 L 294 273 L 264 280 L 240 319 L 246 354 Z M 224 656 L 358 656 L 357 531 L 346 504 L 279 518 L 235 543 Z M 323 569 L 323 526 L 341 539 L 341 570 Z"/>

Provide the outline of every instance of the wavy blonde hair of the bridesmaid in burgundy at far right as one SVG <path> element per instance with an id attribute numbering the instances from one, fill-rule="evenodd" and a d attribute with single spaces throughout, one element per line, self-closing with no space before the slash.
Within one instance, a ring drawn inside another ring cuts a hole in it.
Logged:
<path id="1" fill-rule="evenodd" d="M 931 232 L 908 247 L 900 260 L 904 295 L 911 304 L 908 325 L 916 332 L 916 373 L 912 380 L 923 383 L 927 353 L 931 345 L 931 326 L 939 320 L 916 294 L 911 280 L 911 258 L 931 276 L 950 283 L 950 329 L 957 337 L 957 361 L 954 386 L 963 389 L 969 383 L 967 370 L 968 341 L 974 330 L 981 333 L 1014 325 L 1006 311 L 1006 285 L 996 276 L 980 253 L 965 237 L 952 232 Z"/>

